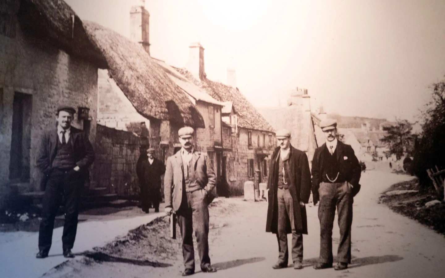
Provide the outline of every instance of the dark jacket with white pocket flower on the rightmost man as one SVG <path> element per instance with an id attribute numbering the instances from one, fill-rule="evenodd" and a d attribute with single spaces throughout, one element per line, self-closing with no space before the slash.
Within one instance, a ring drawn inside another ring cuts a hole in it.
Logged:
<path id="1" fill-rule="evenodd" d="M 326 148 L 326 143 L 321 147 L 317 148 L 314 153 L 314 158 L 312 159 L 312 196 L 314 199 L 314 204 L 320 201 L 320 195 L 318 194 L 318 189 L 322 181 L 322 173 L 324 170 L 324 156 L 322 155 L 324 149 Z M 355 190 L 360 189 L 359 181 L 361 175 L 360 163 L 354 154 L 354 150 L 350 145 L 346 145 L 340 141 L 337 142 L 336 147 L 337 161 L 340 173 L 342 177 L 345 178 L 350 184 L 354 186 L 352 189 L 353 195 L 356 194 Z M 357 191 L 358 192 L 358 191 Z"/>

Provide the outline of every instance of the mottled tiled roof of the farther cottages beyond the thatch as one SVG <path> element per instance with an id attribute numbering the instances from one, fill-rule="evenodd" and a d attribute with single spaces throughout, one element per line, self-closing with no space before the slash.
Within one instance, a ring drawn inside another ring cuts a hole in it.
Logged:
<path id="1" fill-rule="evenodd" d="M 233 107 L 238 115 L 238 127 L 275 132 L 271 125 L 258 113 L 255 107 L 253 107 L 238 89 L 208 79 L 201 81 L 196 79 L 196 77 L 184 68 L 177 68 L 177 70 L 215 99 L 219 101 L 232 101 Z"/>

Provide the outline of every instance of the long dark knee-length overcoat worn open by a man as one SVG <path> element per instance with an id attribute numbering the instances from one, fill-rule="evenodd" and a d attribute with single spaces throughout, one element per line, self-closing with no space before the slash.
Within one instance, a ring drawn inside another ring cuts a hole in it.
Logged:
<path id="1" fill-rule="evenodd" d="M 307 155 L 303 151 L 290 146 L 289 154 L 289 192 L 294 201 L 294 221 L 297 233 L 307 234 L 307 215 L 306 208 L 300 207 L 299 202 L 307 203 L 311 195 L 311 172 L 309 170 L 309 162 Z M 271 158 L 271 173 L 267 181 L 268 192 L 268 208 L 266 232 L 278 233 L 278 171 L 279 171 L 279 150 L 274 150 Z M 288 221 L 287 221 L 288 222 Z M 290 222 L 286 225 L 287 234 L 291 233 Z"/>

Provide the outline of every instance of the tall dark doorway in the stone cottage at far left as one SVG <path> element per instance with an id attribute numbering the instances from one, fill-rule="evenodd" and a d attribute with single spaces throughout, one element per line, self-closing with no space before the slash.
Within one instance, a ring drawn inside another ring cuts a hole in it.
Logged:
<path id="1" fill-rule="evenodd" d="M 16 92 L 12 110 L 9 179 L 29 182 L 32 96 Z"/>

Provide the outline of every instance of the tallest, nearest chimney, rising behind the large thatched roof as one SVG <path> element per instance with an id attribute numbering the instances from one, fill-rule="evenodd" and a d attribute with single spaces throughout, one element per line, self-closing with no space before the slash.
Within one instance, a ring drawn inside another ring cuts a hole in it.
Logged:
<path id="1" fill-rule="evenodd" d="M 150 55 L 150 14 L 145 9 L 145 0 L 136 1 L 130 9 L 130 39 L 142 45 Z"/>

